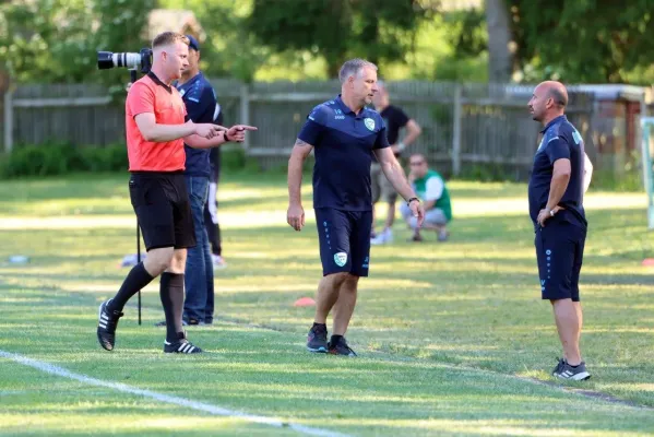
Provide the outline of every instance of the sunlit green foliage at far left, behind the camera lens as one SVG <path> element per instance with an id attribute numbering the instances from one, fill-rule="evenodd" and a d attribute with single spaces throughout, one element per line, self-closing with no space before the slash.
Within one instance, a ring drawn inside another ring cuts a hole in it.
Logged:
<path id="1" fill-rule="evenodd" d="M 0 5 L 0 62 L 19 82 L 105 82 L 96 51 L 138 51 L 155 0 L 34 0 Z M 123 72 L 124 74 L 124 72 Z"/>

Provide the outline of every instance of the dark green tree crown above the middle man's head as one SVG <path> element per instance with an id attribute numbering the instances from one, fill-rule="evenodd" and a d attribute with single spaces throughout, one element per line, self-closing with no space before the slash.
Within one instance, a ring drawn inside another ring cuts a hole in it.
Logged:
<path id="1" fill-rule="evenodd" d="M 254 0 L 249 29 L 277 51 L 311 50 L 334 78 L 347 57 L 402 59 L 426 15 L 414 0 Z"/>

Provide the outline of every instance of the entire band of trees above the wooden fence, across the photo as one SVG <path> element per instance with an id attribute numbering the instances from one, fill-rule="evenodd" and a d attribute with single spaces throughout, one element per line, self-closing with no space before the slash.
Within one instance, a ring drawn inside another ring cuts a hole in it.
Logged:
<path id="1" fill-rule="evenodd" d="M 138 51 L 147 46 L 143 31 L 155 7 L 194 12 L 207 36 L 201 68 L 211 76 L 326 79 L 336 76 L 345 59 L 361 57 L 380 64 L 393 79 L 487 80 L 490 72 L 491 80 L 504 81 L 514 69 L 523 81 L 532 82 L 646 84 L 654 80 L 649 31 L 654 0 L 550 0 L 547 4 L 487 0 L 498 20 L 487 20 L 479 10 L 439 10 L 438 4 L 430 0 L 0 1 L 0 88 L 5 73 L 17 82 L 122 86 L 127 72 L 99 72 L 96 51 Z M 483 71 L 489 63 L 490 71 Z"/>

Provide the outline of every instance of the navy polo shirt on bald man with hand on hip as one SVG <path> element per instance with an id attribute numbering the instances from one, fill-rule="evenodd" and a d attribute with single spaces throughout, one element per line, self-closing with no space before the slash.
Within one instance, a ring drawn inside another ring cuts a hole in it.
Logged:
<path id="1" fill-rule="evenodd" d="M 543 140 L 534 156 L 534 167 L 530 179 L 530 215 L 537 225 L 538 212 L 547 205 L 549 186 L 554 172 L 554 163 L 560 158 L 570 160 L 570 181 L 559 202 L 566 211 L 559 211 L 557 216 L 574 225 L 587 226 L 583 208 L 584 180 L 584 142 L 579 131 L 560 116 L 547 123 L 540 131 Z"/>

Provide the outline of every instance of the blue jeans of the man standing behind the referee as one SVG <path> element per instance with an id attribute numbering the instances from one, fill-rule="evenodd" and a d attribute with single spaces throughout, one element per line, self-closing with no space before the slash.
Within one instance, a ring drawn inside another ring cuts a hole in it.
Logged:
<path id="1" fill-rule="evenodd" d="M 186 176 L 187 190 L 195 228 L 195 247 L 187 252 L 185 272 L 186 298 L 185 320 L 212 323 L 214 314 L 214 273 L 206 228 L 204 227 L 204 204 L 209 192 L 209 178 Z"/>

